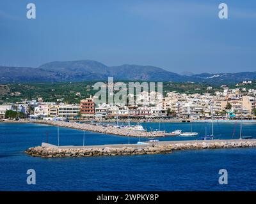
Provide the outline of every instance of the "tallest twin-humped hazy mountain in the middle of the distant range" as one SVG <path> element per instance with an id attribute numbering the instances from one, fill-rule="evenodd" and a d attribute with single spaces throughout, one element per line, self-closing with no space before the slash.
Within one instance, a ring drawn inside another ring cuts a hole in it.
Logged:
<path id="1" fill-rule="evenodd" d="M 116 80 L 152 80 L 152 81 L 175 81 L 182 82 L 186 77 L 177 73 L 166 71 L 154 66 L 139 66 L 135 64 L 124 64 L 121 66 L 108 67 L 97 61 L 68 61 L 49 62 L 40 68 L 65 73 L 63 80 L 102 80 L 114 77 Z"/>

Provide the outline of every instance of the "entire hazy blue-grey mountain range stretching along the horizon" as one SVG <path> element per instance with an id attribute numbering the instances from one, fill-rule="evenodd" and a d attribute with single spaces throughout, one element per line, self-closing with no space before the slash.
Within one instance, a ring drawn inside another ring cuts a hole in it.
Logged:
<path id="1" fill-rule="evenodd" d="M 10 82 L 81 82 L 88 80 L 143 80 L 154 82 L 202 82 L 207 84 L 235 84 L 256 80 L 255 72 L 184 74 L 166 71 L 155 66 L 123 64 L 106 66 L 101 62 L 49 62 L 38 68 L 0 66 L 0 83 Z"/>

